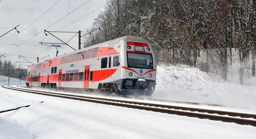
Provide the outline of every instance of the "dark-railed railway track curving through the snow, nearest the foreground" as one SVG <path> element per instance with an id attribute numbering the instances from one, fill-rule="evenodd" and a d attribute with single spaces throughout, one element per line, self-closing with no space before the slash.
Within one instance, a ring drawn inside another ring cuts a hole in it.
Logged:
<path id="1" fill-rule="evenodd" d="M 94 103 L 101 103 L 113 106 L 120 107 L 129 107 L 136 108 L 141 110 L 148 110 L 154 112 L 161 112 L 167 114 L 176 114 L 188 117 L 196 117 L 200 119 L 209 119 L 209 120 L 220 120 L 223 122 L 234 122 L 241 125 L 251 125 L 256 126 L 256 115 L 255 114 L 243 114 L 236 112 L 226 112 L 218 110 L 209 110 L 202 108 L 194 107 L 180 107 L 180 106 L 171 106 L 157 103 L 148 103 L 143 101 L 130 101 L 130 100 L 120 100 L 120 99 L 111 99 L 111 98 L 101 98 L 101 97 L 92 97 L 84 95 L 71 95 L 71 94 L 62 94 L 62 93 L 53 93 L 47 91 L 31 90 L 18 85 L 19 88 L 12 87 L 11 85 L 3 85 L 3 88 L 13 89 L 17 91 L 34 93 L 39 95 L 49 95 L 67 99 L 74 99 L 80 101 L 88 101 Z"/>

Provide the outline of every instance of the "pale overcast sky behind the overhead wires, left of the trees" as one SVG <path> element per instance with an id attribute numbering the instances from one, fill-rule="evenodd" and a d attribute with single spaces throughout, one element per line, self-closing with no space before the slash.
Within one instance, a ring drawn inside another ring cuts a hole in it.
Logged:
<path id="1" fill-rule="evenodd" d="M 22 58 L 19 58 L 19 55 L 27 56 L 27 57 L 39 57 L 39 59 L 47 55 L 49 55 L 50 58 L 55 57 L 56 49 L 54 47 L 41 45 L 39 44 L 39 42 L 41 41 L 51 42 L 51 43 L 61 43 L 61 42 L 49 34 L 48 36 L 46 36 L 42 31 L 46 29 L 47 31 L 78 32 L 80 30 L 80 31 L 84 31 L 81 33 L 81 34 L 84 34 L 86 33 L 87 29 L 90 29 L 94 19 L 98 16 L 98 14 L 100 12 L 103 12 L 104 10 L 103 5 L 106 4 L 107 2 L 107 0 L 0 0 L 0 1 L 1 1 L 0 2 L 0 36 L 12 29 L 12 28 L 4 28 L 4 27 L 14 27 L 16 25 L 20 25 L 17 27 L 17 30 L 20 31 L 19 34 L 15 30 L 13 30 L 0 38 L 0 55 L 6 53 L 5 54 L 6 59 L 7 60 L 10 59 L 12 62 L 26 61 Z M 57 4 L 53 6 L 55 3 Z M 86 4 L 83 5 L 84 3 Z M 81 7 L 76 11 L 74 11 L 79 6 Z M 99 7 L 101 8 L 94 11 Z M 74 12 L 71 13 L 72 11 Z M 42 15 L 43 13 L 45 14 Z M 40 15 L 42 16 L 40 17 Z M 66 17 L 63 18 L 64 16 Z M 75 20 L 81 17 L 83 18 L 74 22 Z M 61 20 L 55 23 L 59 19 Z M 33 24 L 30 25 L 31 23 Z M 52 26 L 49 27 L 49 25 L 52 25 Z M 68 26 L 64 27 L 66 25 Z M 62 27 L 64 28 L 61 29 Z M 74 33 L 54 33 L 54 35 L 67 42 L 68 39 L 74 36 Z M 12 44 L 16 44 L 19 46 L 12 45 Z M 78 37 L 73 38 L 68 44 L 77 50 Z M 61 45 L 61 46 L 63 49 L 61 48 L 59 49 L 59 55 L 70 52 L 70 51 L 74 51 L 67 45 Z M 45 60 L 49 59 L 49 57 L 46 57 Z M 4 59 L 5 59 L 4 57 L 1 57 L 1 60 L 4 60 Z M 30 61 L 34 61 L 33 58 L 28 58 L 28 59 Z M 34 63 L 35 62 L 36 61 L 34 61 Z M 23 67 L 27 68 L 25 66 Z"/>

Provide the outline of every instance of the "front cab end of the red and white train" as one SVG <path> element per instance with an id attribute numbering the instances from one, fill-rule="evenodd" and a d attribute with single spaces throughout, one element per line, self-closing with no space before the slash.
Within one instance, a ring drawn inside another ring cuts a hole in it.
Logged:
<path id="1" fill-rule="evenodd" d="M 156 63 L 151 46 L 146 40 L 127 40 L 124 64 L 121 65 L 122 95 L 150 96 L 155 90 Z"/>

